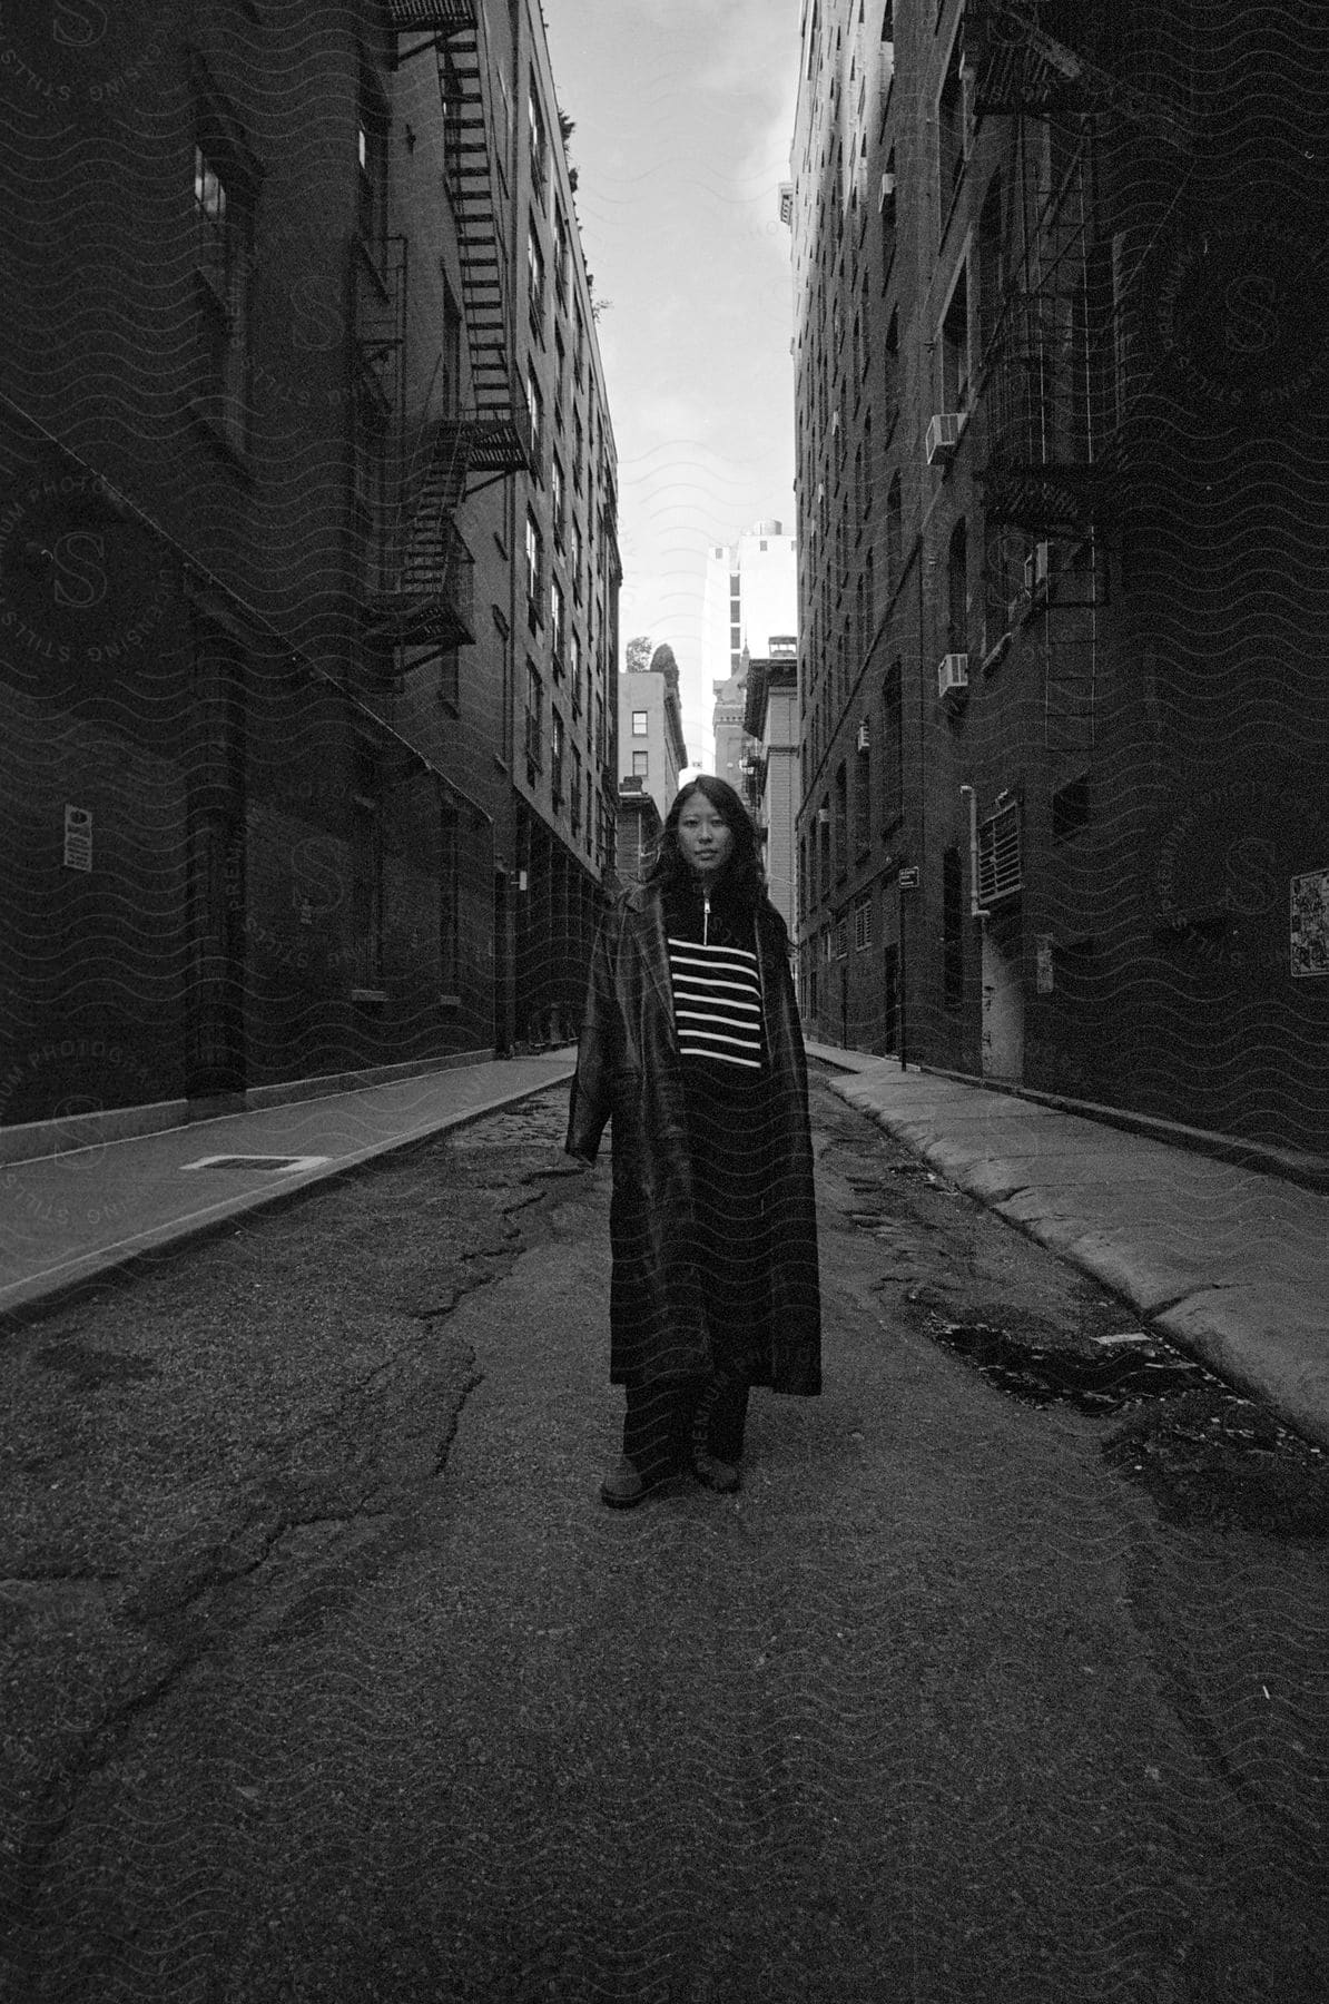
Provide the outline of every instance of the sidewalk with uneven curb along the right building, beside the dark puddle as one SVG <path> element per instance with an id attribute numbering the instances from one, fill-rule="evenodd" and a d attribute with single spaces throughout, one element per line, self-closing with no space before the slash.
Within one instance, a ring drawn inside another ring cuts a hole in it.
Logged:
<path id="1" fill-rule="evenodd" d="M 1329 1445 L 1329 1194 L 896 1058 L 808 1052 L 850 1106 Z"/>

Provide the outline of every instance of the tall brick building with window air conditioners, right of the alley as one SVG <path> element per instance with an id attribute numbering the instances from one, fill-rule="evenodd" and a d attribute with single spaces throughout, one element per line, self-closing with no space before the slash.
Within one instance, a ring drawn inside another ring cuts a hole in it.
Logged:
<path id="1" fill-rule="evenodd" d="M 1325 38 L 1309 0 L 804 6 L 822 1034 L 1323 1150 Z"/>

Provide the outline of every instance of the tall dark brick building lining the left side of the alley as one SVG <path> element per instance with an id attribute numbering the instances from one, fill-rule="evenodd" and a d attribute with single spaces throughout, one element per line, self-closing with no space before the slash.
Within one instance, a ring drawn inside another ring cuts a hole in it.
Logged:
<path id="1" fill-rule="evenodd" d="M 0 1120 L 547 1034 L 611 862 L 619 569 L 537 6 L 14 34 Z"/>

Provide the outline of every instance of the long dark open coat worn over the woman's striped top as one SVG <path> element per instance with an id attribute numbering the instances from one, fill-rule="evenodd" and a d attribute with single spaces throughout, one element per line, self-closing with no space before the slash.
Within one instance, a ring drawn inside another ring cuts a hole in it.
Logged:
<path id="1" fill-rule="evenodd" d="M 808 1062 L 788 962 L 770 902 L 756 920 L 770 1054 L 770 1287 L 758 1303 L 766 1369 L 756 1383 L 822 1389 Z M 674 1024 L 659 886 L 625 892 L 605 916 L 587 982 L 567 1152 L 593 1162 L 613 1120 L 609 1377 L 649 1385 L 712 1369 L 688 1158 L 688 1110 Z M 764 1313 L 762 1313 L 764 1311 Z M 762 1347 L 762 1345 L 760 1345 Z"/>

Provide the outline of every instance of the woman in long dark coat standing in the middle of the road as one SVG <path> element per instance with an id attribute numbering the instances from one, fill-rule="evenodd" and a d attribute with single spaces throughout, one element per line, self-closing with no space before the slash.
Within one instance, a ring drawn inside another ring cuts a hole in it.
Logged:
<path id="1" fill-rule="evenodd" d="M 567 1152 L 593 1162 L 607 1120 L 627 1417 L 599 1493 L 627 1509 L 682 1467 L 734 1491 L 748 1387 L 822 1389 L 822 1311 L 788 932 L 724 780 L 678 794 L 595 940 Z"/>

